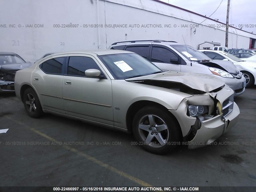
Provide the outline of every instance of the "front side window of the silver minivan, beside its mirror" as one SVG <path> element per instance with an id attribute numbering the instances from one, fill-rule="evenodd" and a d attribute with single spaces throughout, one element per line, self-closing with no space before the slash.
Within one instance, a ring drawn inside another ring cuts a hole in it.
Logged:
<path id="1" fill-rule="evenodd" d="M 165 48 L 152 47 L 152 62 L 170 63 L 171 57 L 177 57 L 177 55 Z"/>

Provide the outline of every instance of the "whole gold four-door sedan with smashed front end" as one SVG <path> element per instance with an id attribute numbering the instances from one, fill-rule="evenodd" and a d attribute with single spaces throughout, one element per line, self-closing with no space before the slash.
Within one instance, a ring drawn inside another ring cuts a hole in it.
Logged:
<path id="1" fill-rule="evenodd" d="M 121 50 L 52 54 L 18 71 L 15 91 L 33 118 L 47 112 L 133 133 L 157 154 L 210 144 L 240 113 L 218 78 L 163 72 Z"/>

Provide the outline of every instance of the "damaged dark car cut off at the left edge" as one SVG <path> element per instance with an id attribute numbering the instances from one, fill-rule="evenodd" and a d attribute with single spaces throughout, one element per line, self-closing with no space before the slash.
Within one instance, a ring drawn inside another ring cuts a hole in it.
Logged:
<path id="1" fill-rule="evenodd" d="M 0 92 L 14 92 L 16 71 L 29 66 L 31 63 L 26 62 L 16 53 L 0 52 Z"/>

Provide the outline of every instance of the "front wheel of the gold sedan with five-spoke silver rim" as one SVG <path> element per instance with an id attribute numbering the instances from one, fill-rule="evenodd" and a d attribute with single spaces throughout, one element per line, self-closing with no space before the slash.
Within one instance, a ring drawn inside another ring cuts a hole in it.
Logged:
<path id="1" fill-rule="evenodd" d="M 154 154 L 166 154 L 180 142 L 180 126 L 164 108 L 148 106 L 140 109 L 132 123 L 139 145 Z"/>

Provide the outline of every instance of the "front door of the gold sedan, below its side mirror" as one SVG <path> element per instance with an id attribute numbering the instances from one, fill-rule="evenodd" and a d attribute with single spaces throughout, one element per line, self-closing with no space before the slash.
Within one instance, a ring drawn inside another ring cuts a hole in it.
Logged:
<path id="1" fill-rule="evenodd" d="M 98 69 L 104 78 L 89 78 L 84 72 Z M 69 54 L 62 80 L 66 114 L 113 126 L 112 83 L 99 61 L 87 54 Z"/>

